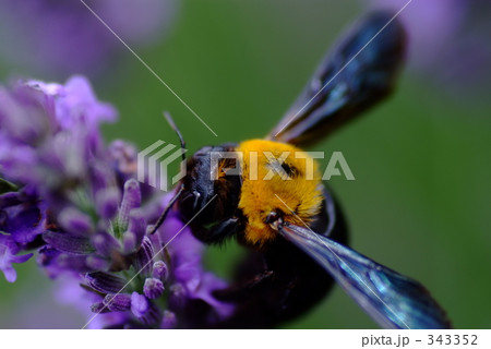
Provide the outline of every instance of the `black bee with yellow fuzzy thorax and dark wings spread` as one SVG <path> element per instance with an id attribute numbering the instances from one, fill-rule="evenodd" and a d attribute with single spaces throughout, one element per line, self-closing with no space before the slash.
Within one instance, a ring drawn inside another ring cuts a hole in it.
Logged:
<path id="1" fill-rule="evenodd" d="M 405 31 L 392 13 L 368 15 L 327 55 L 265 139 L 205 146 L 187 160 L 187 174 L 154 231 L 175 208 L 204 243 L 235 238 L 250 251 L 231 286 L 214 292 L 236 305 L 217 327 L 277 326 L 312 309 L 335 282 L 382 327 L 451 326 L 421 284 L 347 246 L 339 204 L 301 151 L 385 98 L 405 50 Z M 203 326 L 195 318 L 191 326 Z"/>

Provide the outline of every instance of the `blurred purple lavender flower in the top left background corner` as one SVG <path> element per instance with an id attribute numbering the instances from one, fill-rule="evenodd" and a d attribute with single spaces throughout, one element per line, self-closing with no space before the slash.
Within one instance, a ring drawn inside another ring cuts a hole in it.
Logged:
<path id="1" fill-rule="evenodd" d="M 168 31 L 175 0 L 85 0 L 129 45 Z M 97 73 L 124 47 L 80 0 L 0 0 L 0 55 L 31 73 Z"/>

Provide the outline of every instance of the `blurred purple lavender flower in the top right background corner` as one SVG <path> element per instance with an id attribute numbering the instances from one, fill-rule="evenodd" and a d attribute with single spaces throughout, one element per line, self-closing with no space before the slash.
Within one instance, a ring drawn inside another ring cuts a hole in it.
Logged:
<path id="1" fill-rule="evenodd" d="M 371 0 L 399 11 L 407 0 Z M 409 64 L 451 92 L 487 91 L 491 80 L 491 3 L 487 0 L 412 1 L 400 13 L 409 32 Z"/>

